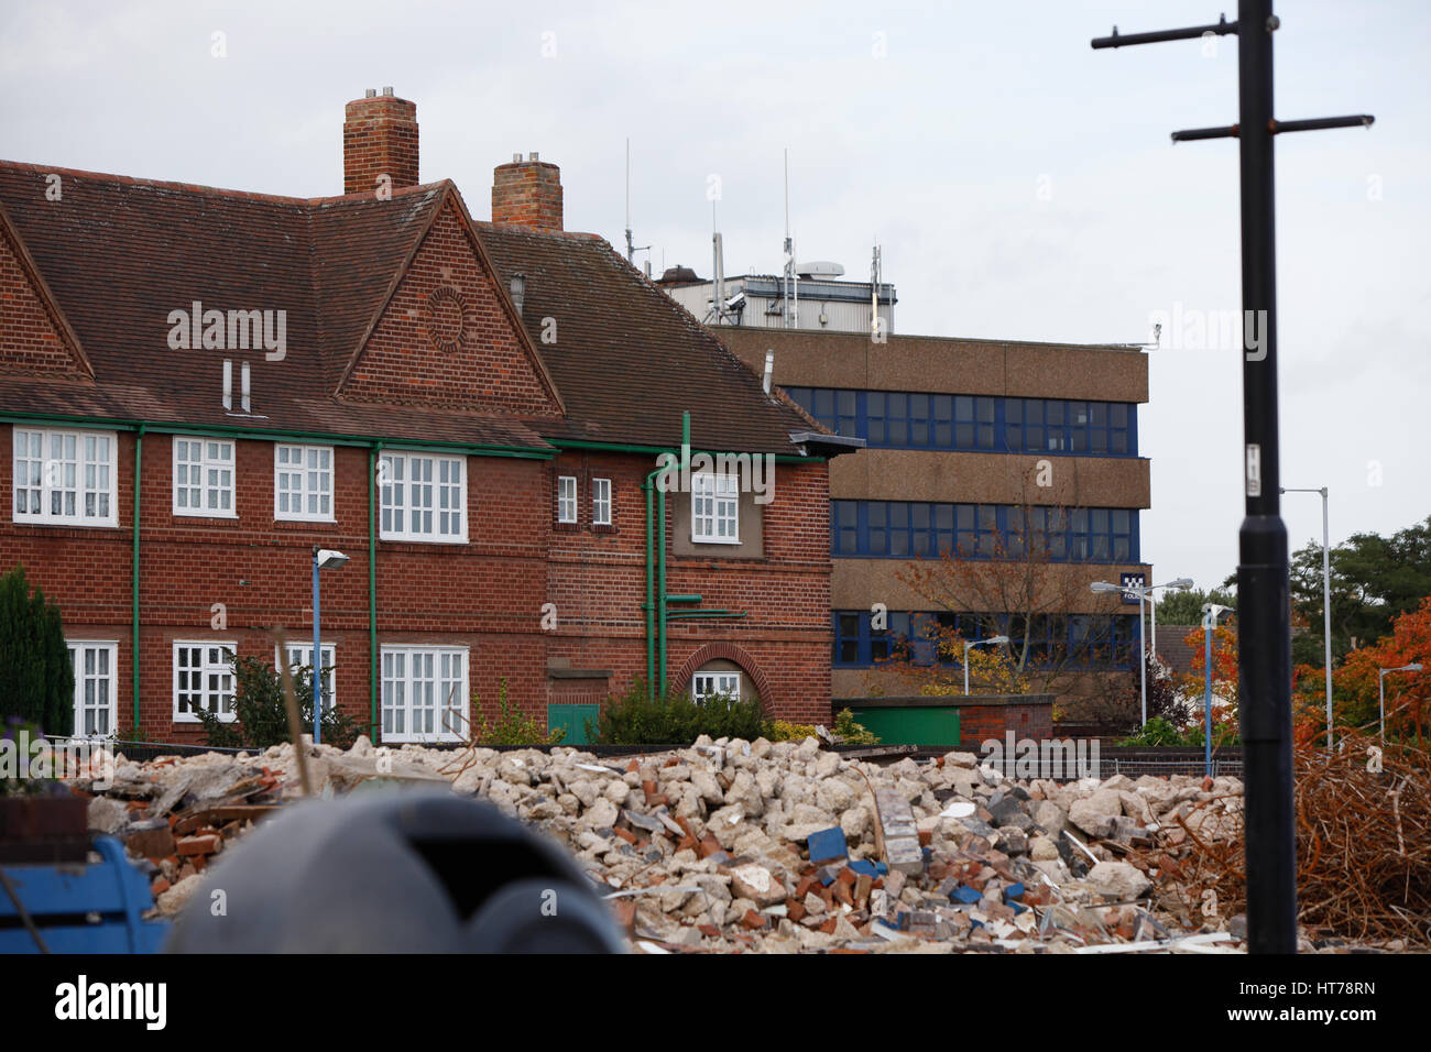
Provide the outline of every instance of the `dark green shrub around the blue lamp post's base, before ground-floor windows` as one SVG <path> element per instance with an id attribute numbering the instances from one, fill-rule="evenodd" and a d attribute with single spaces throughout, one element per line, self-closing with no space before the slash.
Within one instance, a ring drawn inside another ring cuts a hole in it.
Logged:
<path id="1" fill-rule="evenodd" d="M 268 749 L 289 741 L 288 704 L 283 701 L 283 680 L 272 664 L 256 657 L 233 656 L 225 651 L 233 667 L 236 697 L 233 701 L 238 719 L 222 721 L 210 711 L 199 713 L 203 724 L 205 744 L 215 749 Z M 293 697 L 298 700 L 302 733 L 313 730 L 313 670 L 311 666 L 295 666 Z M 323 674 L 331 677 L 332 667 Z M 362 730 L 362 724 L 333 704 L 323 706 L 323 744 L 348 749 Z"/>

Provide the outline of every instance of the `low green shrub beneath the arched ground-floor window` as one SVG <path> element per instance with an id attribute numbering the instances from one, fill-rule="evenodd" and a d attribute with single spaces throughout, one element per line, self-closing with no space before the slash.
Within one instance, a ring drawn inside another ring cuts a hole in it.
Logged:
<path id="1" fill-rule="evenodd" d="M 647 697 L 643 680 L 635 680 L 622 694 L 610 697 L 595 726 L 587 720 L 587 736 L 604 746 L 690 744 L 701 734 L 750 741 L 764 730 L 766 710 L 758 697 L 713 697 L 701 704 L 684 693 L 668 691 Z"/>

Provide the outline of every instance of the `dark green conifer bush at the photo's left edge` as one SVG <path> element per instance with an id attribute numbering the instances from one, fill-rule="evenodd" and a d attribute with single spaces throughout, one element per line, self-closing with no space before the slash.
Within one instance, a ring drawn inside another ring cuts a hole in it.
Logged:
<path id="1" fill-rule="evenodd" d="M 74 730 L 74 667 L 60 608 L 40 588 L 30 594 L 23 565 L 0 577 L 0 716 L 50 734 Z"/>

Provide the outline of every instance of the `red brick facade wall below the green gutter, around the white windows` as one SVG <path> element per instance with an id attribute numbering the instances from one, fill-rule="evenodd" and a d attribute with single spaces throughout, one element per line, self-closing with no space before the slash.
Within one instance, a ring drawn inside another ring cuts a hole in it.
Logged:
<path id="1" fill-rule="evenodd" d="M 0 427 L 0 507 L 13 507 L 11 428 Z M 130 551 L 135 437 L 119 435 L 119 528 L 16 525 L 0 517 L 0 565 L 23 562 L 59 601 L 72 638 L 116 640 L 119 724 L 132 730 Z M 197 741 L 173 723 L 173 643 L 235 641 L 240 656 L 273 660 L 273 628 L 312 640 L 315 544 L 349 557 L 323 571 L 323 641 L 338 647 L 339 706 L 368 723 L 368 451 L 336 447 L 332 524 L 273 518 L 273 444 L 239 439 L 238 518 L 175 517 L 173 438 L 143 442 L 140 551 L 140 727 L 155 740 Z M 498 681 L 524 711 L 567 700 L 550 658 L 611 668 L 612 690 L 645 673 L 645 505 L 641 481 L 654 458 L 562 454 L 558 462 L 468 458 L 465 545 L 379 541 L 378 638 L 471 647 L 471 686 L 497 713 Z M 555 477 L 578 474 L 582 522 L 552 527 Z M 612 479 L 614 527 L 590 528 L 591 477 Z M 668 674 L 688 684 L 693 657 L 734 656 L 766 687 L 771 716 L 830 719 L 829 528 L 824 465 L 777 469 L 764 505 L 761 560 L 671 558 L 671 593 L 700 593 L 704 607 L 748 610 L 740 621 L 671 623 Z M 668 501 L 687 500 L 671 494 Z M 668 510 L 667 528 L 673 515 Z M 228 627 L 210 627 L 223 603 Z M 544 631 L 545 603 L 558 627 Z M 704 660 L 704 658 L 701 658 Z M 585 686 L 585 684 L 582 684 Z M 474 713 L 475 716 L 475 713 Z"/>

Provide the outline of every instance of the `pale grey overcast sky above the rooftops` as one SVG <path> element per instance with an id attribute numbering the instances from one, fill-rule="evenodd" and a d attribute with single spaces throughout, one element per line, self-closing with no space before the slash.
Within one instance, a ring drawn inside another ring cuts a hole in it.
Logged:
<path id="1" fill-rule="evenodd" d="M 1186 326 L 1241 308 L 1238 157 L 1168 133 L 1236 120 L 1235 39 L 1089 39 L 1224 9 L 9 1 L 0 156 L 326 196 L 343 103 L 391 84 L 418 104 L 422 179 L 478 219 L 492 166 L 538 150 L 567 228 L 622 245 L 630 137 L 637 245 L 705 276 L 711 176 L 727 271 L 778 269 L 788 149 L 798 256 L 860 279 L 879 242 L 896 332 L 1145 342 L 1156 312 L 1183 319 L 1141 411 L 1142 551 L 1211 585 L 1236 565 L 1241 368 L 1216 325 L 1211 346 Z M 1377 117 L 1276 142 L 1284 484 L 1331 487 L 1335 544 L 1431 514 L 1431 4 L 1276 11 L 1278 117 Z M 1284 515 L 1294 548 L 1319 540 L 1319 498 Z"/>

